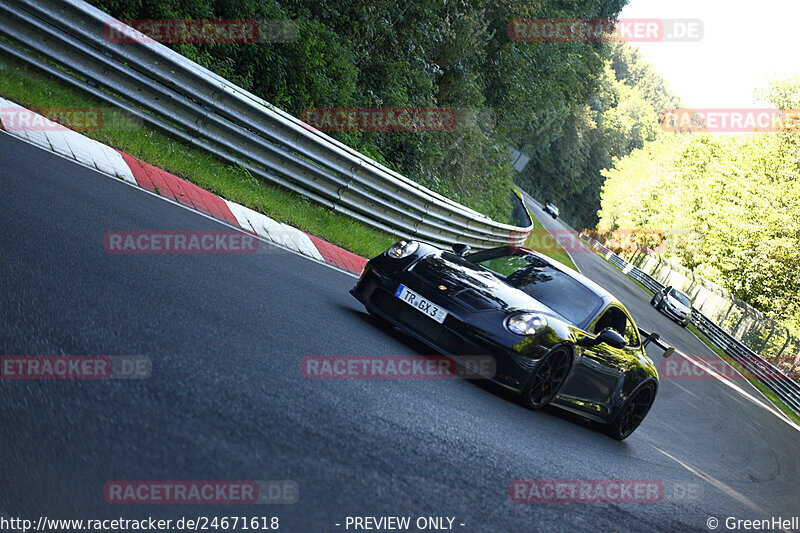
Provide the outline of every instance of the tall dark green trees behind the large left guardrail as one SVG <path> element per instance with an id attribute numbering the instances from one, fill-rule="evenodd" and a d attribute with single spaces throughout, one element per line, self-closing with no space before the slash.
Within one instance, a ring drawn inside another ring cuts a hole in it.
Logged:
<path id="1" fill-rule="evenodd" d="M 599 170 L 653 137 L 654 110 L 670 98 L 630 47 L 509 38 L 515 18 L 615 18 L 626 0 L 91 1 L 119 19 L 294 21 L 293 42 L 171 46 L 296 116 L 455 109 L 452 131 L 332 135 L 500 220 L 515 179 L 593 225 Z M 532 158 L 516 178 L 508 147 Z"/>

